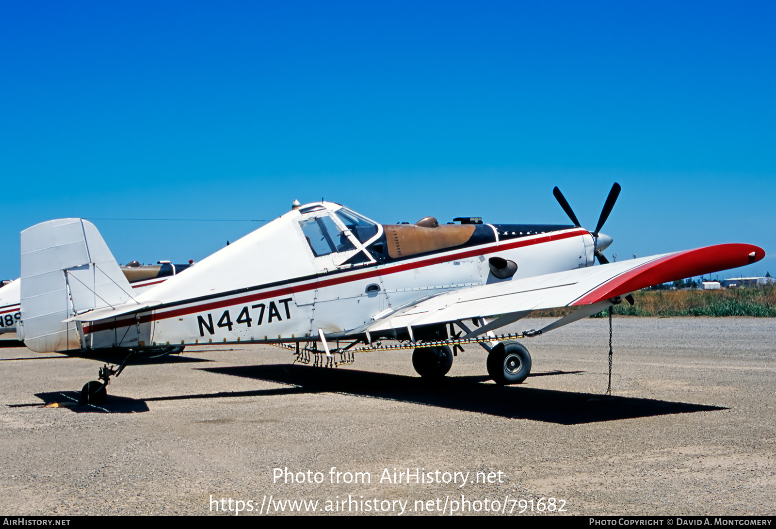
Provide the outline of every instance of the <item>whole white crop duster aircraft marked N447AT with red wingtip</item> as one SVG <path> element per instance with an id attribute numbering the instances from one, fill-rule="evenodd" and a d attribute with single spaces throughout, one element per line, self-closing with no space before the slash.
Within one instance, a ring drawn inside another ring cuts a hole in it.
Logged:
<path id="1" fill-rule="evenodd" d="M 289 213 L 139 295 L 92 223 L 50 220 L 22 232 L 19 337 L 40 352 L 128 350 L 118 368 L 100 369 L 102 382 L 84 386 L 85 401 L 95 403 L 133 354 L 210 343 L 277 344 L 297 359 L 309 361 L 312 353 L 323 363 L 325 354 L 329 364 L 335 353 L 397 348 L 382 344 L 397 340 L 414 347 L 420 375 L 438 377 L 459 344 L 477 341 L 490 351 L 492 379 L 518 383 L 531 357 L 517 340 L 497 339 L 499 327 L 536 309 L 574 309 L 507 338 L 535 336 L 632 301 L 638 289 L 764 257 L 757 246 L 720 244 L 608 263 L 602 251 L 611 237 L 601 227 L 619 191 L 615 184 L 593 232 L 580 226 L 558 188 L 573 225 L 476 217 L 383 225 L 333 202 L 295 202 Z"/>

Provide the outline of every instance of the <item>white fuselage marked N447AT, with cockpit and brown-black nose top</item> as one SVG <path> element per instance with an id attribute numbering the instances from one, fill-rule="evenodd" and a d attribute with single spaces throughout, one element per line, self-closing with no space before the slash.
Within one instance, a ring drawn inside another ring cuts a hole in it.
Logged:
<path id="1" fill-rule="evenodd" d="M 430 217 L 429 217 L 430 218 Z M 491 258 L 517 270 L 497 278 Z M 88 348 L 348 337 L 418 299 L 593 264 L 577 226 L 381 225 L 321 202 L 293 209 L 137 296 L 153 310 L 84 323 Z"/>

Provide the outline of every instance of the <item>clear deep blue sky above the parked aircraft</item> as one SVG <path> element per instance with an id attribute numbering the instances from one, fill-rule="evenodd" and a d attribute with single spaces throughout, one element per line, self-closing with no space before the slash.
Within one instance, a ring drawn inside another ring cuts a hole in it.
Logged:
<path id="1" fill-rule="evenodd" d="M 278 5 L 282 4 L 282 5 Z M 293 201 L 566 223 L 618 259 L 747 242 L 776 275 L 772 2 L 3 2 L 0 276 L 92 220 L 202 259 Z M 172 220 L 107 220 L 107 219 Z M 201 220 L 214 220 L 206 222 Z M 241 220 L 241 221 L 227 221 Z"/>

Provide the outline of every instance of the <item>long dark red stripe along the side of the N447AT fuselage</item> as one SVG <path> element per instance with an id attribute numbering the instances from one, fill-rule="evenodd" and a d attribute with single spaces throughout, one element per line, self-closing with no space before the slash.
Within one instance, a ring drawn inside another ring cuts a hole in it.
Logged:
<path id="1" fill-rule="evenodd" d="M 174 318 L 177 316 L 185 316 L 193 313 L 201 313 L 206 310 L 220 309 L 225 306 L 239 305 L 241 303 L 250 303 L 257 299 L 267 299 L 278 296 L 287 296 L 294 294 L 295 292 L 305 292 L 312 289 L 320 289 L 322 287 L 341 285 L 342 283 L 348 283 L 352 281 L 359 281 L 362 279 L 368 279 L 377 277 L 378 275 L 390 275 L 396 274 L 400 271 L 414 270 L 415 268 L 424 268 L 426 266 L 439 265 L 448 261 L 456 261 L 456 259 L 464 259 L 469 257 L 475 257 L 476 255 L 490 254 L 494 251 L 502 250 L 514 250 L 515 248 L 533 246 L 535 244 L 548 243 L 555 240 L 569 239 L 571 237 L 580 237 L 589 233 L 587 230 L 574 230 L 566 233 L 553 233 L 544 235 L 542 237 L 536 237 L 534 239 L 521 239 L 514 240 L 513 242 L 502 243 L 498 242 L 491 247 L 480 247 L 468 251 L 461 251 L 457 254 L 439 254 L 431 258 L 425 258 L 422 261 L 414 261 L 409 263 L 402 263 L 399 265 L 387 265 L 385 268 L 377 269 L 371 268 L 368 271 L 355 272 L 353 274 L 343 274 L 332 278 L 323 278 L 317 281 L 303 283 L 302 285 L 286 286 L 280 289 L 268 290 L 265 292 L 251 292 L 247 296 L 240 296 L 237 298 L 218 299 L 209 303 L 203 303 L 201 305 L 182 307 L 180 309 L 170 309 L 164 312 L 147 313 L 144 316 L 140 316 L 140 320 L 137 318 L 125 318 L 123 320 L 117 320 L 116 322 L 105 322 L 99 324 L 92 324 L 90 326 L 84 325 L 85 333 L 94 333 L 100 330 L 116 329 L 117 327 L 126 327 L 134 323 L 148 323 L 150 321 L 167 320 L 168 318 Z"/>

